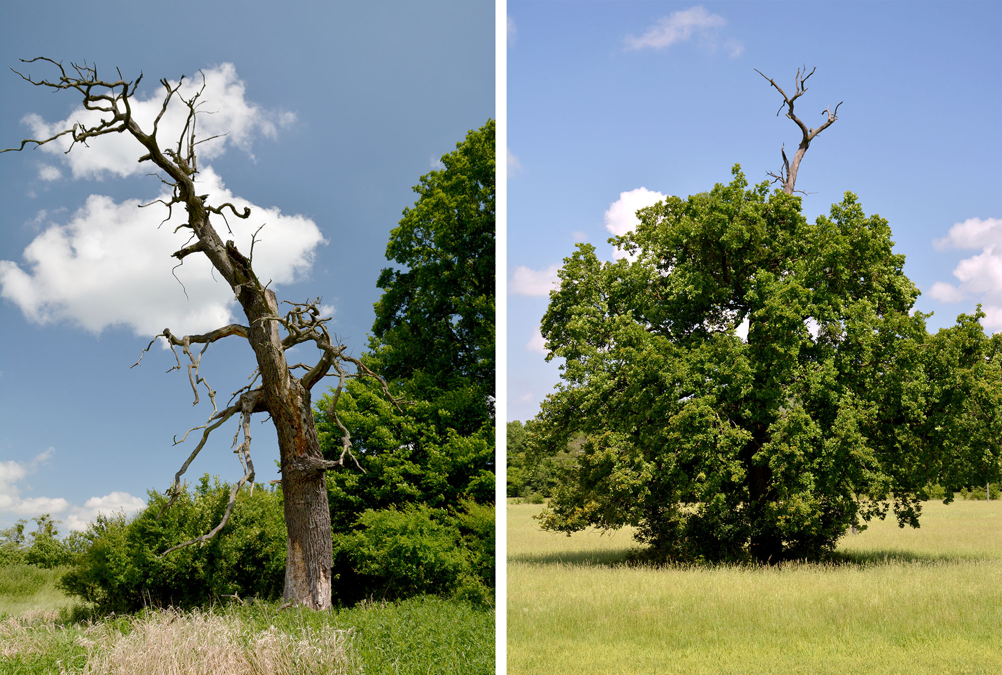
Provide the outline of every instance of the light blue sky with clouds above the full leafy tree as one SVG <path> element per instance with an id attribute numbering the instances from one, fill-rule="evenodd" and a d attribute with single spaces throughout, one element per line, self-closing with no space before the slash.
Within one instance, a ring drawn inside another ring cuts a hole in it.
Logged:
<path id="1" fill-rule="evenodd" d="M 559 379 L 539 319 L 575 241 L 605 240 L 657 193 L 778 172 L 818 126 L 798 189 L 814 220 L 845 191 L 890 222 L 932 329 L 982 302 L 1002 330 L 1002 4 L 508 2 L 508 420 Z M 640 188 L 645 188 L 641 190 Z"/>

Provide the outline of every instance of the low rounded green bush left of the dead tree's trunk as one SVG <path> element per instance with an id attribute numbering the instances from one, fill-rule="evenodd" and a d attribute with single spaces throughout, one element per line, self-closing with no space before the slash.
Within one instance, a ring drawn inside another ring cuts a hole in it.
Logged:
<path id="1" fill-rule="evenodd" d="M 226 526 L 203 546 L 160 558 L 168 548 L 211 530 L 222 518 L 230 486 L 202 477 L 187 484 L 157 519 L 166 498 L 149 493 L 145 511 L 100 515 L 83 537 L 85 548 L 63 576 L 63 590 L 102 612 L 129 612 L 145 605 L 193 607 L 220 595 L 273 598 L 282 593 L 286 527 L 282 496 L 242 489 Z"/>

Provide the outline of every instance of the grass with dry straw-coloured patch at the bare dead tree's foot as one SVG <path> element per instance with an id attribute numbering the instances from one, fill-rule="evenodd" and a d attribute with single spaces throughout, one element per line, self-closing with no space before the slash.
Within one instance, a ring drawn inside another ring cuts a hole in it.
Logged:
<path id="1" fill-rule="evenodd" d="M 494 672 L 494 612 L 425 596 L 313 612 L 256 601 L 84 618 L 58 571 L 0 569 L 0 675 Z"/>

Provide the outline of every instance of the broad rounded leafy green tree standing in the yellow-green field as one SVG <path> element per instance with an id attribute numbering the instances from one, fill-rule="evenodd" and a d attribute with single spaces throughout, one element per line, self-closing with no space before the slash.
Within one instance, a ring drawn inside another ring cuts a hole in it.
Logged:
<path id="1" fill-rule="evenodd" d="M 847 192 L 809 224 L 800 197 L 732 173 L 638 211 L 610 239 L 627 257 L 565 259 L 542 321 L 563 384 L 530 454 L 585 442 L 545 527 L 633 525 L 669 558 L 814 558 L 892 508 L 917 526 L 923 489 L 970 464 L 931 450 L 925 316 L 887 221 Z M 997 464 L 997 445 L 977 453 Z"/>

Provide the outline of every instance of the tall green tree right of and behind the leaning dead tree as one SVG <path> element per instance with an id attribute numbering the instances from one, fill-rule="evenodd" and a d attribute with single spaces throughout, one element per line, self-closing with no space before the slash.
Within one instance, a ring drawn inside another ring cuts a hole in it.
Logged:
<path id="1" fill-rule="evenodd" d="M 367 512 L 494 501 L 494 127 L 470 131 L 442 156 L 444 168 L 421 177 L 387 245 L 403 268 L 379 277 L 384 293 L 363 362 L 408 405 L 390 404 L 369 380 L 318 402 L 325 457 L 341 457 L 347 431 L 363 470 L 328 474 L 336 536 L 361 542 L 358 533 L 380 518 L 360 520 Z M 325 412 L 335 397 L 344 430 Z M 335 546 L 337 573 L 362 575 L 352 562 L 361 558 Z M 481 576 L 493 584 L 493 562 Z"/>

